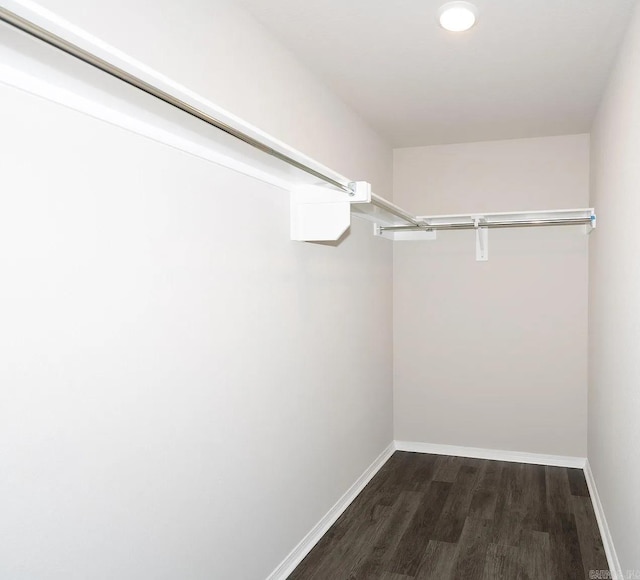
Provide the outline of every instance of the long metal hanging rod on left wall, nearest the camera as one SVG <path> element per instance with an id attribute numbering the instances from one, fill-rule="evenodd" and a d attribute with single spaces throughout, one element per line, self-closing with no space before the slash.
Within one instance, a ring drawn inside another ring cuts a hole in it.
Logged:
<path id="1" fill-rule="evenodd" d="M 156 97 L 157 99 L 160 99 L 161 101 L 164 101 L 165 103 L 176 107 L 177 109 L 180 109 L 185 113 L 188 113 L 189 115 L 192 115 L 193 117 L 196 117 L 197 119 L 200 119 L 201 121 L 204 121 L 205 123 L 211 125 L 212 127 L 215 127 L 216 129 L 224 131 L 228 135 L 231 135 L 236 139 L 239 139 L 240 141 L 243 141 L 244 143 L 255 147 L 256 149 L 259 149 L 260 151 L 263 151 L 264 153 L 267 153 L 272 157 L 284 161 L 285 163 L 288 163 L 289 165 L 292 165 L 293 167 L 296 167 L 297 169 L 300 169 L 305 173 L 313 175 L 314 177 L 317 177 L 318 179 L 340 189 L 341 191 L 348 193 L 351 196 L 354 195 L 355 186 L 351 183 L 341 183 L 340 181 L 337 181 L 336 179 L 333 179 L 332 177 L 329 177 L 328 175 L 325 175 L 320 171 L 317 171 L 312 167 L 309 167 L 308 165 L 305 165 L 304 163 L 293 159 L 292 157 L 289 157 L 285 153 L 273 149 L 272 147 L 265 143 L 262 143 L 258 139 L 255 139 L 250 135 L 247 135 L 246 133 L 234 127 L 231 127 L 227 123 L 216 119 L 215 117 L 198 109 L 197 107 L 194 107 L 182 101 L 181 99 L 172 96 L 162 89 L 159 89 L 158 87 L 155 87 L 154 85 L 142 80 L 141 78 L 132 75 L 115 65 L 112 65 L 106 60 L 101 59 L 100 57 L 84 50 L 83 48 L 71 42 L 68 42 L 64 38 L 61 38 L 60 36 L 57 36 L 56 34 L 49 32 L 48 30 L 45 30 L 37 24 L 27 20 L 26 18 L 22 18 L 18 14 L 15 14 L 14 12 L 11 12 L 10 10 L 7 10 L 6 8 L 3 8 L 1 6 L 0 20 L 18 28 L 19 30 L 22 30 L 23 32 L 26 32 L 27 34 L 35 36 L 36 38 L 66 52 L 67 54 L 70 54 L 71 56 L 74 56 L 81 61 L 90 64 L 100 69 L 101 71 L 106 72 L 120 79 L 121 81 L 124 81 L 136 87 L 137 89 L 140 89 L 145 93 L 148 93 L 149 95 L 152 95 L 153 97 Z"/>

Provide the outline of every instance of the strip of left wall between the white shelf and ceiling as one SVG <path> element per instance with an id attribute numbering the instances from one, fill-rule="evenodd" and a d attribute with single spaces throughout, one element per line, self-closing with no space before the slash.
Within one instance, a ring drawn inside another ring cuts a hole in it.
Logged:
<path id="1" fill-rule="evenodd" d="M 388 144 L 238 2 L 39 4 L 333 170 L 369 181 L 376 193 L 391 198 Z"/>

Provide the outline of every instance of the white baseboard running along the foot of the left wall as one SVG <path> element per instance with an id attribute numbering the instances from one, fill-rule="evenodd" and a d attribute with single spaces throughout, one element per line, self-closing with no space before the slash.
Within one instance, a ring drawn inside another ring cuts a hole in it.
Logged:
<path id="1" fill-rule="evenodd" d="M 334 504 L 334 506 L 323 516 L 323 518 L 311 529 L 311 531 L 300 541 L 300 543 L 289 553 L 289 555 L 271 572 L 267 580 L 285 580 L 303 558 L 318 543 L 320 538 L 327 533 L 327 530 L 342 515 L 344 510 L 356 496 L 364 489 L 364 486 L 371 481 L 380 468 L 387 462 L 396 450 L 393 442 L 367 467 L 357 481 L 345 492 L 345 494 Z"/>

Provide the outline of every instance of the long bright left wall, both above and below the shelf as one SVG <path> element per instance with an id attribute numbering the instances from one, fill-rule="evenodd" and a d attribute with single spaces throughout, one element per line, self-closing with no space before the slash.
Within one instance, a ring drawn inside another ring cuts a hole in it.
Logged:
<path id="1" fill-rule="evenodd" d="M 57 4 L 390 188 L 391 150 L 235 6 Z M 392 439 L 390 243 L 291 242 L 282 190 L 0 90 L 0 577 L 266 577 Z"/>

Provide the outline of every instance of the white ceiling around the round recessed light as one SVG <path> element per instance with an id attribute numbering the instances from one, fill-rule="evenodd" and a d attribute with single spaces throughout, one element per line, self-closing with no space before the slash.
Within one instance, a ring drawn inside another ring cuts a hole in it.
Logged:
<path id="1" fill-rule="evenodd" d="M 241 0 L 395 147 L 588 132 L 636 0 Z"/>

